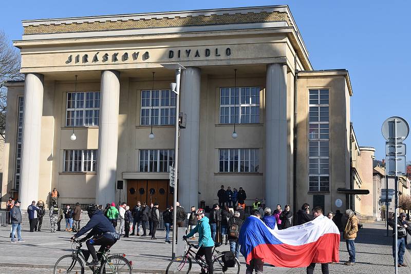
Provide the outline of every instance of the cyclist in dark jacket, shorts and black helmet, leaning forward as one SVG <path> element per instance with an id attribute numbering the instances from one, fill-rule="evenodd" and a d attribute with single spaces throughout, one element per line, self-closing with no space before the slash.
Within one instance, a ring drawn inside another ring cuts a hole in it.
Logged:
<path id="1" fill-rule="evenodd" d="M 99 259 L 94 248 L 95 245 L 100 245 L 99 252 L 103 252 L 107 246 L 113 246 L 120 238 L 113 224 L 104 216 L 103 211 L 98 208 L 99 206 L 95 204 L 87 206 L 87 214 L 90 220 L 79 232 L 70 238 L 70 240 L 75 240 L 91 229 L 87 236 L 80 240 L 82 242 L 86 241 L 87 249 L 93 258 L 91 262 L 86 264 L 87 266 L 99 265 Z"/>

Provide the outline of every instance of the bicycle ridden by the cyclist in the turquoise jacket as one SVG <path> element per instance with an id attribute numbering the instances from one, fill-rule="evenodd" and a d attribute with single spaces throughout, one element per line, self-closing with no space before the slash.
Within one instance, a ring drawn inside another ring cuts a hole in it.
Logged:
<path id="1" fill-rule="evenodd" d="M 199 258 L 196 259 L 196 253 L 192 250 L 194 247 L 193 244 L 190 244 L 188 240 L 185 241 L 185 251 L 183 256 L 179 256 L 174 258 L 167 266 L 165 270 L 165 274 L 187 274 L 190 272 L 192 267 L 192 259 L 197 262 L 197 264 L 201 267 L 201 273 L 208 272 L 208 265 L 206 263 L 206 259 Z M 233 268 L 234 272 L 230 271 L 230 273 L 238 274 L 240 272 L 240 262 L 235 258 L 235 265 L 234 267 L 226 267 L 223 258 L 225 252 L 220 252 L 216 249 L 217 245 L 214 246 L 212 251 L 213 259 L 213 273 L 226 273 L 228 272 L 229 268 Z"/>

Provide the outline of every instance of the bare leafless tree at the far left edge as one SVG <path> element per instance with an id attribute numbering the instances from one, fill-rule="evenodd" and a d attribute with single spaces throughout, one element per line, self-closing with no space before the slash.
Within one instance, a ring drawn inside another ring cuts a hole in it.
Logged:
<path id="1" fill-rule="evenodd" d="M 20 53 L 0 30 L 0 140 L 5 140 L 6 110 L 7 110 L 7 81 L 23 80 L 20 73 Z"/>

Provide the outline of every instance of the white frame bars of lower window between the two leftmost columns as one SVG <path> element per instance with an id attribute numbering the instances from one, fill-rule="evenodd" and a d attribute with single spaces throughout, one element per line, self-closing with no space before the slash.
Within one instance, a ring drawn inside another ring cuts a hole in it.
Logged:
<path id="1" fill-rule="evenodd" d="M 88 152 L 91 151 L 90 159 L 86 159 Z M 67 153 L 71 153 L 69 160 L 66 160 Z M 74 160 L 74 153 L 80 153 L 81 159 Z M 97 169 L 97 149 L 65 149 L 63 154 L 63 172 L 96 172 Z M 77 169 L 76 162 L 80 162 L 80 169 Z M 86 162 L 90 165 L 90 170 L 86 170 Z M 94 164 L 96 162 L 96 164 Z M 94 168 L 95 166 L 95 168 Z"/>

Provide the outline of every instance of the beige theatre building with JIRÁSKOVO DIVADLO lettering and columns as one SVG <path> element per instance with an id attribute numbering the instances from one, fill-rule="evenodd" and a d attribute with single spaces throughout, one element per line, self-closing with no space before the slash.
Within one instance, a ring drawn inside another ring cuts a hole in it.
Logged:
<path id="1" fill-rule="evenodd" d="M 55 187 L 59 204 L 171 204 L 176 75 L 164 64 L 179 63 L 186 209 L 217 202 L 221 185 L 244 188 L 249 205 L 258 197 L 293 210 L 346 208 L 338 188 L 350 187 L 348 71 L 312 68 L 288 6 L 23 27 L 14 46 L 26 77 L 8 83 L 3 202 L 9 193 L 22 208 L 49 202 Z"/>

